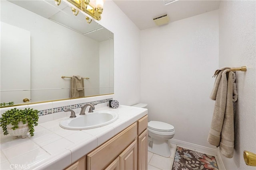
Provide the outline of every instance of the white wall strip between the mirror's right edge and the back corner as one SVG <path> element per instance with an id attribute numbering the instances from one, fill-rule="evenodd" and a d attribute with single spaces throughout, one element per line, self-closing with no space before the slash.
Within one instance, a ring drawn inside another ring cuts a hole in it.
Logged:
<path id="1" fill-rule="evenodd" d="M 140 30 L 112 0 L 97 21 L 114 33 L 114 94 L 122 105 L 140 102 Z"/>

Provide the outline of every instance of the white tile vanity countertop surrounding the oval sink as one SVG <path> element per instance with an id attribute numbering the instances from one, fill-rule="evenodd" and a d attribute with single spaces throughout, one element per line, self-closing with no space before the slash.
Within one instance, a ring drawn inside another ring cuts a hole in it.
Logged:
<path id="1" fill-rule="evenodd" d="M 118 119 L 108 125 L 86 130 L 67 130 L 59 126 L 62 119 L 40 123 L 34 136 L 12 139 L 1 134 L 1 170 L 60 170 L 96 149 L 126 127 L 148 114 L 148 109 L 120 106 L 102 107 L 118 113 Z"/>

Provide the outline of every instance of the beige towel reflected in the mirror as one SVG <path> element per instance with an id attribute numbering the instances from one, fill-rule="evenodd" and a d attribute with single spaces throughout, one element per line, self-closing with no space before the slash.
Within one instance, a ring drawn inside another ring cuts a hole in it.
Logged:
<path id="1" fill-rule="evenodd" d="M 80 78 L 80 80 L 78 78 Z M 72 76 L 70 98 L 78 97 L 84 97 L 84 79 L 82 76 Z"/>

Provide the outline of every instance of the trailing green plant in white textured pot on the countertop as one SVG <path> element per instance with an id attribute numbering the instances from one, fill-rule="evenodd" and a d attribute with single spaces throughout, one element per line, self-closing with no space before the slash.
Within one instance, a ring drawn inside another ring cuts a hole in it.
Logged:
<path id="1" fill-rule="evenodd" d="M 4 135 L 10 134 L 13 139 L 20 135 L 22 135 L 22 138 L 26 138 L 28 132 L 30 136 L 34 136 L 34 126 L 38 125 L 38 118 L 38 110 L 14 108 L 2 114 L 0 126 Z"/>

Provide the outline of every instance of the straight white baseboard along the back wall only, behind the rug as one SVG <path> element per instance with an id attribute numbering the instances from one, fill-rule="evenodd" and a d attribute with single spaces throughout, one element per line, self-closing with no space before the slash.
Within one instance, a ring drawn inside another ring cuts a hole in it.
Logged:
<path id="1" fill-rule="evenodd" d="M 182 147 L 187 147 L 187 148 L 191 148 L 191 149 L 195 149 L 198 150 L 200 152 L 204 152 L 206 154 L 210 154 L 210 155 L 216 155 L 217 156 L 217 150 L 216 149 L 212 149 L 212 148 L 208 148 L 208 147 L 203 147 L 200 145 L 196 145 L 193 143 L 188 143 L 188 142 L 184 142 L 184 141 L 179 141 L 176 139 L 170 139 L 169 140 L 169 144 L 175 144 L 175 145 L 179 145 Z"/>

